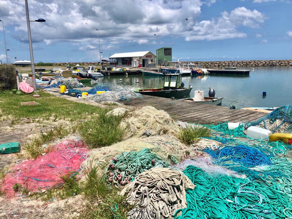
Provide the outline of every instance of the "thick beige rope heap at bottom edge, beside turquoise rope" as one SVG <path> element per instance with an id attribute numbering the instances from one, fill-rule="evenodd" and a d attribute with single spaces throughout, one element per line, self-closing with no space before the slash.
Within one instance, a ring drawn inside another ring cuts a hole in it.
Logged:
<path id="1" fill-rule="evenodd" d="M 121 195 L 134 208 L 128 219 L 170 219 L 178 209 L 186 208 L 186 189 L 195 185 L 182 172 L 170 168 L 152 168 L 128 184 Z"/>

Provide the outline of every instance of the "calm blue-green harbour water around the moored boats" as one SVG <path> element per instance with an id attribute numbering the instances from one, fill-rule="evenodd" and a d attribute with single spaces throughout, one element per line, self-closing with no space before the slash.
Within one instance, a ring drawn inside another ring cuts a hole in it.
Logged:
<path id="1" fill-rule="evenodd" d="M 209 87 L 216 91 L 216 97 L 224 97 L 222 105 L 230 105 L 229 101 L 237 107 L 279 107 L 292 104 L 292 67 L 249 67 L 255 68 L 246 75 L 208 75 L 208 76 L 183 76 L 185 86 L 193 87 L 190 94 L 194 96 L 196 89 L 204 90 L 208 96 Z M 122 79 L 122 81 L 119 81 Z M 139 81 L 136 83 L 135 81 Z M 144 75 L 107 76 L 98 84 L 104 84 L 113 89 L 135 89 L 161 87 L 163 77 Z M 87 84 L 87 86 L 92 86 Z M 263 98 L 263 91 L 267 96 Z"/>

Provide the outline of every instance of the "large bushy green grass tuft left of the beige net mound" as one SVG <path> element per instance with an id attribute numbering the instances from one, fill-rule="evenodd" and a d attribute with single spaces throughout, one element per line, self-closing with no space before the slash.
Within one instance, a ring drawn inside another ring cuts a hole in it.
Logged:
<path id="1" fill-rule="evenodd" d="M 98 116 L 80 123 L 80 135 L 91 148 L 109 146 L 124 138 L 125 129 L 119 126 L 123 116 L 107 114 L 109 111 L 99 109 Z"/>

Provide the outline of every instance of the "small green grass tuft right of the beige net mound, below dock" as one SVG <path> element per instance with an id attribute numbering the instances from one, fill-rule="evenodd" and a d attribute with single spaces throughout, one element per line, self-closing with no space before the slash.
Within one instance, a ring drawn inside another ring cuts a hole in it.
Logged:
<path id="1" fill-rule="evenodd" d="M 178 133 L 178 139 L 187 144 L 193 144 L 200 137 L 210 137 L 211 130 L 205 126 L 190 126 L 186 128 L 180 127 L 180 132 Z"/>

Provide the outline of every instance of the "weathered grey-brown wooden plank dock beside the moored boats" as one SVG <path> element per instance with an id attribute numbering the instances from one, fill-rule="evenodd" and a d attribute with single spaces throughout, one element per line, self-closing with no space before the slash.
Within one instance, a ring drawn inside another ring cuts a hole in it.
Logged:
<path id="1" fill-rule="evenodd" d="M 255 112 L 247 109 L 230 109 L 230 107 L 215 106 L 202 103 L 172 100 L 168 98 L 142 95 L 132 101 L 122 101 L 125 105 L 143 107 L 151 105 L 156 109 L 163 109 L 173 119 L 199 124 L 218 124 L 225 121 L 249 122 L 267 115 L 264 112 Z"/>

